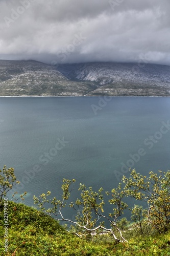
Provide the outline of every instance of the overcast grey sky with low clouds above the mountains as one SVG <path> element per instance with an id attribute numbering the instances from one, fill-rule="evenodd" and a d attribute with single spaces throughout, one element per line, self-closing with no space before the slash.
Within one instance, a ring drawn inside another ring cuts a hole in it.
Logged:
<path id="1" fill-rule="evenodd" d="M 170 65 L 170 0 L 0 0 L 0 59 Z"/>

